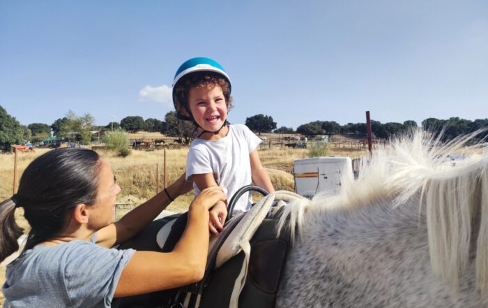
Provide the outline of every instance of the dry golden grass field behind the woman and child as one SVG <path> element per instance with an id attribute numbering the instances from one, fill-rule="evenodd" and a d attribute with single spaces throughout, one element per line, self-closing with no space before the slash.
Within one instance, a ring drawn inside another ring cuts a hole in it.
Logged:
<path id="1" fill-rule="evenodd" d="M 132 135 L 132 138 L 159 138 L 151 133 L 139 133 L 139 135 Z M 150 135 L 151 134 L 151 135 Z M 144 135 L 144 137 L 142 136 Z M 17 180 L 20 179 L 22 172 L 26 166 L 33 161 L 37 156 L 47 152 L 49 149 L 36 149 L 35 153 L 19 153 L 17 161 Z M 156 185 L 158 179 L 159 189 L 162 189 L 163 179 L 165 177 L 164 172 L 164 152 L 162 149 L 153 151 L 135 151 L 132 150 L 131 154 L 125 158 L 114 156 L 111 152 L 99 151 L 99 154 L 106 159 L 112 166 L 114 175 L 116 175 L 117 182 L 121 186 L 121 193 L 117 200 L 118 203 L 132 203 L 133 205 L 139 205 L 148 198 L 151 198 L 156 192 Z M 181 149 L 167 149 L 166 150 L 166 163 L 167 163 L 167 184 L 171 184 L 179 177 L 185 170 L 186 156 L 188 154 L 188 147 Z M 306 158 L 308 149 L 288 149 L 288 148 L 275 148 L 262 149 L 259 151 L 261 162 L 263 166 L 268 170 L 271 178 L 271 182 L 275 186 L 275 189 L 286 189 L 293 191 L 294 181 L 292 175 L 293 161 L 295 159 Z M 364 156 L 364 151 L 358 151 L 356 149 L 330 149 L 328 153 L 332 156 L 350 156 L 356 158 Z M 12 196 L 13 193 L 13 154 L 0 155 L 0 198 L 5 200 Z M 158 170 L 158 172 L 156 172 Z M 184 212 L 188 209 L 193 198 L 193 193 L 190 192 L 185 196 L 181 196 L 172 203 L 168 210 L 174 212 Z M 257 197 L 259 198 L 259 197 Z M 119 210 L 117 218 L 119 218 L 125 209 Z M 16 219 L 17 222 L 24 229 L 27 230 L 29 225 L 26 223 L 22 209 L 17 210 Z M 3 284 L 5 275 L 5 268 L 0 267 L 0 282 Z M 3 298 L 0 293 L 0 307 L 3 303 Z"/>

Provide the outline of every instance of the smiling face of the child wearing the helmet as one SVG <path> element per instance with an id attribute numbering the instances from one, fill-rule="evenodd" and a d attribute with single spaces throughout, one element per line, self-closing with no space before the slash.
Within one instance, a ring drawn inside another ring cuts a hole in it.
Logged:
<path id="1" fill-rule="evenodd" d="M 204 131 L 218 131 L 227 119 L 227 102 L 218 85 L 212 89 L 193 87 L 188 95 L 188 105 L 195 122 Z"/>

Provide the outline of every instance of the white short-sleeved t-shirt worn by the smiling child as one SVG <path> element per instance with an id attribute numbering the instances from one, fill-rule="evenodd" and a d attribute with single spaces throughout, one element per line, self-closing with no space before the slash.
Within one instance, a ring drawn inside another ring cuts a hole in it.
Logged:
<path id="1" fill-rule="evenodd" d="M 261 143 L 243 124 L 229 125 L 229 133 L 219 140 L 193 140 L 186 161 L 186 178 L 192 175 L 213 173 L 215 182 L 224 188 L 227 201 L 245 185 L 252 184 L 249 154 Z M 200 190 L 194 183 L 195 196 Z M 234 214 L 245 212 L 252 204 L 251 193 L 245 194 L 234 207 Z"/>

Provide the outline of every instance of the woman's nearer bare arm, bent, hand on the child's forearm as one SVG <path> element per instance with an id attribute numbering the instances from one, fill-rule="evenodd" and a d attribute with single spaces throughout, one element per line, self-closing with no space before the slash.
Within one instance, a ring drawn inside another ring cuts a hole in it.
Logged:
<path id="1" fill-rule="evenodd" d="M 201 191 L 190 205 L 185 232 L 173 251 L 136 251 L 122 271 L 114 296 L 149 293 L 201 280 L 208 253 L 208 210 L 225 198 L 218 186 Z"/>

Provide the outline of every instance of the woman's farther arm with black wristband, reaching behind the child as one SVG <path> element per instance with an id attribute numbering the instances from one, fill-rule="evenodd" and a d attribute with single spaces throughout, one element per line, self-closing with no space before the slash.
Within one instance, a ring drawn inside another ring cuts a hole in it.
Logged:
<path id="1" fill-rule="evenodd" d="M 176 182 L 167 187 L 171 198 L 177 198 L 191 189 L 192 185 L 190 182 L 185 181 L 184 173 Z M 162 210 L 165 210 L 169 203 L 171 203 L 171 200 L 168 198 L 167 193 L 161 191 L 153 198 L 125 214 L 121 220 L 98 230 L 97 244 L 102 247 L 112 247 L 115 244 L 129 240 L 153 221 Z"/>

